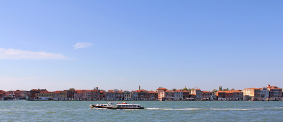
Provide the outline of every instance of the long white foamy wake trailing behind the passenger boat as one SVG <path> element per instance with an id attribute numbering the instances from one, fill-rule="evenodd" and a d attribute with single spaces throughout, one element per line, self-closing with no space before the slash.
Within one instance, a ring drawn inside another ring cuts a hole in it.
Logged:
<path id="1" fill-rule="evenodd" d="M 268 110 L 268 109 L 282 109 L 283 107 L 271 107 L 271 108 L 146 108 L 147 110 L 176 110 L 176 111 L 192 111 L 192 110 L 235 110 L 235 111 L 246 111 L 246 110 Z"/>

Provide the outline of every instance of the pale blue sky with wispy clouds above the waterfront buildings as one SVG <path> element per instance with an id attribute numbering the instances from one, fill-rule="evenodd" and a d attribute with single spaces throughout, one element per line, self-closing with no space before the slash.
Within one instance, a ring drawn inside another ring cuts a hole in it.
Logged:
<path id="1" fill-rule="evenodd" d="M 1 1 L 0 89 L 283 87 L 282 1 Z"/>

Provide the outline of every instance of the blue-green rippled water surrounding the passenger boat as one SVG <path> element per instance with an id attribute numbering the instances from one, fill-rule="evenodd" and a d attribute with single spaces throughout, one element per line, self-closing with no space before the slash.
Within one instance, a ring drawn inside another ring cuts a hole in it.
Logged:
<path id="1" fill-rule="evenodd" d="M 283 121 L 282 101 L 126 102 L 146 109 L 90 109 L 88 105 L 106 101 L 0 101 L 0 121 Z"/>

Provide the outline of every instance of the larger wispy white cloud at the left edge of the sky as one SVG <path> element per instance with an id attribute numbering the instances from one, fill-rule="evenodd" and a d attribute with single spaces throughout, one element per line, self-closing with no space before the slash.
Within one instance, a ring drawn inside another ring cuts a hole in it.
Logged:
<path id="1" fill-rule="evenodd" d="M 0 48 L 0 59 L 68 59 L 60 53 L 48 53 L 45 51 L 33 52 L 19 49 Z"/>

